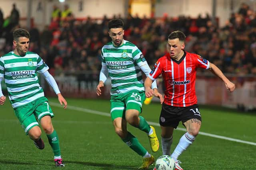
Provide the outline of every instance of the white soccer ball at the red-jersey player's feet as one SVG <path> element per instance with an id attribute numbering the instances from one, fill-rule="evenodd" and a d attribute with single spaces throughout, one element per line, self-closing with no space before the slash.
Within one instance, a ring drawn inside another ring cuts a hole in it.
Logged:
<path id="1" fill-rule="evenodd" d="M 169 155 L 157 158 L 154 170 L 175 170 L 175 161 Z"/>

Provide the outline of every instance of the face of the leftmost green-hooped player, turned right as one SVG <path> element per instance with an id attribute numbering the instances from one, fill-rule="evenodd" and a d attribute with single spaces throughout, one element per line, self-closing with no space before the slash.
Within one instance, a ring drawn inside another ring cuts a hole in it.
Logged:
<path id="1" fill-rule="evenodd" d="M 20 56 L 24 56 L 28 51 L 29 39 L 26 37 L 19 37 L 18 41 L 13 41 L 13 45 L 16 48 Z"/>

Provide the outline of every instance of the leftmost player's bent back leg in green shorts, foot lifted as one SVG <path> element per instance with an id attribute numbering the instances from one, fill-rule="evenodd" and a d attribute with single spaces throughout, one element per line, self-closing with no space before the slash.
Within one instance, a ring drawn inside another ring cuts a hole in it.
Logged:
<path id="1" fill-rule="evenodd" d="M 35 102 L 31 102 L 25 106 L 14 109 L 15 115 L 18 117 L 26 135 L 34 141 L 38 149 L 44 149 L 44 142 L 41 139 L 41 129 L 38 126 L 36 117 L 33 114 Z"/>

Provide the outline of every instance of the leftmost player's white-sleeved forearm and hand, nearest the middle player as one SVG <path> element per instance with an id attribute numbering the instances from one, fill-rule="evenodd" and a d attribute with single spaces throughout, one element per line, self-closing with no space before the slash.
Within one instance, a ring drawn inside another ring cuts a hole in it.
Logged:
<path id="1" fill-rule="evenodd" d="M 64 109 L 66 109 L 68 104 L 64 99 L 64 97 L 62 96 L 62 94 L 60 93 L 58 85 L 55 79 L 53 78 L 53 76 L 48 71 L 43 72 L 42 75 L 44 76 L 46 82 L 52 87 L 54 92 L 57 94 L 60 104 L 62 105 L 62 103 L 64 103 Z"/>

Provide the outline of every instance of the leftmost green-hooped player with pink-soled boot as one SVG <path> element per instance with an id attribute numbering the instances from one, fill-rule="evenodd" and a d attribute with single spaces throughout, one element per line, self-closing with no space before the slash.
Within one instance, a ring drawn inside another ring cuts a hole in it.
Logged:
<path id="1" fill-rule="evenodd" d="M 51 117 L 54 117 L 54 114 L 47 98 L 44 97 L 43 89 L 38 84 L 36 72 L 42 74 L 52 86 L 60 104 L 64 103 L 64 109 L 67 107 L 67 102 L 60 94 L 56 81 L 48 72 L 49 67 L 36 53 L 28 51 L 30 42 L 28 31 L 15 29 L 13 39 L 14 51 L 0 57 L 0 105 L 6 100 L 1 88 L 1 81 L 4 78 L 14 113 L 26 135 L 29 135 L 38 149 L 44 149 L 39 121 L 54 152 L 55 166 L 65 166 L 60 156 L 59 138 L 52 126 Z"/>

